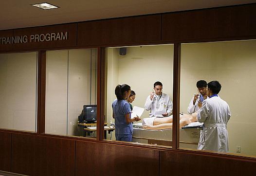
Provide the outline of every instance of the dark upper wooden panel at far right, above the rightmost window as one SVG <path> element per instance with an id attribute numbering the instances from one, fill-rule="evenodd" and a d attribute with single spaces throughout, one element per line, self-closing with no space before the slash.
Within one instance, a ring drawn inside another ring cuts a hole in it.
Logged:
<path id="1" fill-rule="evenodd" d="M 162 40 L 255 36 L 255 18 L 255 4 L 164 14 Z"/>

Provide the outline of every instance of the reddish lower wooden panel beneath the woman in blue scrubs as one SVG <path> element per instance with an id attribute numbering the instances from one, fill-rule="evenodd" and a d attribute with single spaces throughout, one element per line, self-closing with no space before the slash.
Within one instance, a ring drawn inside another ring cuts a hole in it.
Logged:
<path id="1" fill-rule="evenodd" d="M 158 176 L 159 151 L 76 141 L 75 176 Z"/>

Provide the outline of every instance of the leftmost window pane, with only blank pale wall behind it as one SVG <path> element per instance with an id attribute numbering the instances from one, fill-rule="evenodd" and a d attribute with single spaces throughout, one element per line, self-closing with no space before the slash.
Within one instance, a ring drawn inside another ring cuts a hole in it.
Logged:
<path id="1" fill-rule="evenodd" d="M 37 131 L 37 52 L 0 54 L 0 128 Z"/>

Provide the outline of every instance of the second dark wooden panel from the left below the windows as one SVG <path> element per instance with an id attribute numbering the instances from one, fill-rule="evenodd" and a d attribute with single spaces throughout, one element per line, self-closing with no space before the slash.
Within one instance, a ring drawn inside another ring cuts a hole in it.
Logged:
<path id="1" fill-rule="evenodd" d="M 11 172 L 29 176 L 74 176 L 75 141 L 12 134 Z"/>

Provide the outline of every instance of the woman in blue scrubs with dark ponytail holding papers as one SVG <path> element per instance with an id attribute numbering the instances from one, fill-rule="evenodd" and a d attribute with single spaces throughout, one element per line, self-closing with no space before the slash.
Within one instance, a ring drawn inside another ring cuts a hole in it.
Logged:
<path id="1" fill-rule="evenodd" d="M 127 84 L 117 85 L 115 88 L 116 98 L 112 103 L 113 118 L 115 119 L 115 138 L 117 141 L 131 141 L 132 122 L 140 121 L 139 117 L 131 118 L 131 109 L 126 101 L 130 96 L 130 86 Z"/>

